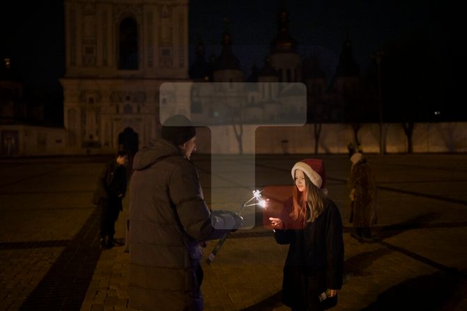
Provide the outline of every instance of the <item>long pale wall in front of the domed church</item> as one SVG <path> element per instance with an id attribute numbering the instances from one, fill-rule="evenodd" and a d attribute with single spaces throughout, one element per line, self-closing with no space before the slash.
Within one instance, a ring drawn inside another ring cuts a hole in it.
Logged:
<path id="1" fill-rule="evenodd" d="M 244 125 L 244 132 L 256 126 Z M 243 137 L 245 154 L 314 154 L 314 125 L 302 127 L 258 127 L 253 140 Z M 387 153 L 407 152 L 407 138 L 400 123 L 383 125 Z M 379 153 L 379 124 L 362 125 L 358 137 L 363 151 Z M 413 152 L 467 152 L 467 122 L 416 123 L 413 131 Z M 200 153 L 236 154 L 238 142 L 232 125 L 211 127 L 211 131 L 198 129 Z M 350 124 L 323 124 L 319 137 L 319 154 L 342 154 L 353 142 Z M 211 150 L 212 147 L 212 150 Z"/>

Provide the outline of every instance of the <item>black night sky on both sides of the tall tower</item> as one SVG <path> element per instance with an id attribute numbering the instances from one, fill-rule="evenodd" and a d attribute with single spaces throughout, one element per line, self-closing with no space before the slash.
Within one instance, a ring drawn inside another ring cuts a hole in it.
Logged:
<path id="1" fill-rule="evenodd" d="M 191 0 L 190 62 L 194 45 L 201 38 L 206 56 L 219 53 L 224 19 L 233 39 L 234 53 L 243 70 L 263 65 L 270 42 L 277 33 L 280 0 Z M 355 61 L 362 73 L 378 50 L 398 49 L 408 64 L 431 74 L 438 89 L 438 107 L 459 119 L 457 94 L 460 83 L 461 10 L 445 1 L 300 1 L 286 0 L 291 35 L 303 56 L 319 57 L 323 69 L 332 75 L 342 43 L 349 34 Z M 24 12 L 26 10 L 26 12 Z M 58 79 L 65 72 L 63 1 L 5 1 L 0 8 L 0 56 L 12 58 L 13 69 L 22 79 L 29 101 L 47 102 L 56 122 L 61 118 L 63 95 Z M 416 61 L 415 60 L 415 61 Z M 410 65 L 407 65 L 411 67 Z M 436 105 L 436 103 L 432 104 Z M 57 119 L 58 118 L 58 119 Z M 461 117 L 464 118 L 464 117 Z M 465 120 L 465 118 L 464 118 Z"/>

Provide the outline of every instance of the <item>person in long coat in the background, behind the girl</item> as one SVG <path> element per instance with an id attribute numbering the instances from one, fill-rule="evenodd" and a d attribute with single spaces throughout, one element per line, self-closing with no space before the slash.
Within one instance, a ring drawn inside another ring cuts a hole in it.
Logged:
<path id="1" fill-rule="evenodd" d="M 356 152 L 352 155 L 351 162 L 349 223 L 352 223 L 355 228 L 355 233 L 351 236 L 359 241 L 371 242 L 374 239 L 371 226 L 377 222 L 376 184 L 367 157 Z"/>

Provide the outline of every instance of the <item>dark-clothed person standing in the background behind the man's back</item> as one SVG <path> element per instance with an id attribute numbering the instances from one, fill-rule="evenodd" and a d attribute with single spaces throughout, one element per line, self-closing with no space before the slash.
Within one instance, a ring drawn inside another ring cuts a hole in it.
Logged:
<path id="1" fill-rule="evenodd" d="M 122 200 L 127 187 L 126 164 L 128 164 L 128 152 L 119 151 L 115 159 L 105 164 L 98 177 L 93 203 L 101 209 L 101 248 L 112 248 L 116 244 L 115 222 L 118 214 L 123 210 Z"/>

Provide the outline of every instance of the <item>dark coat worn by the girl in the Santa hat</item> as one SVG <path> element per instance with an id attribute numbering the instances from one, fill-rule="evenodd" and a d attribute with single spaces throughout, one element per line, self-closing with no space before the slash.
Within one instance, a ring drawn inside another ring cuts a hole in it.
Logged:
<path id="1" fill-rule="evenodd" d="M 290 244 L 284 266 L 282 301 L 285 305 L 303 310 L 322 310 L 319 295 L 326 289 L 342 287 L 344 242 L 342 219 L 332 200 L 325 199 L 323 213 L 305 228 L 290 218 L 292 198 L 286 200 L 281 219 L 285 230 L 275 230 L 278 244 Z M 326 299 L 326 307 L 337 298 Z"/>

